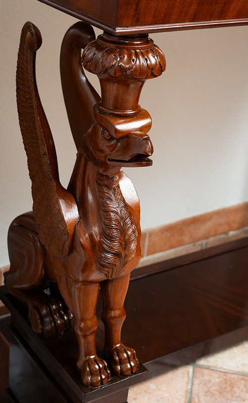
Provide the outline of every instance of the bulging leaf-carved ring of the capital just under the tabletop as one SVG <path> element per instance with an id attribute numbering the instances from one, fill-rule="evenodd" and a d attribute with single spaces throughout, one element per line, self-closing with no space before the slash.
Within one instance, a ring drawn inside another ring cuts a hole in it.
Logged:
<path id="1" fill-rule="evenodd" d="M 101 35 L 89 43 L 82 55 L 83 67 L 105 77 L 148 79 L 165 70 L 163 52 L 147 36 L 118 43 Z"/>

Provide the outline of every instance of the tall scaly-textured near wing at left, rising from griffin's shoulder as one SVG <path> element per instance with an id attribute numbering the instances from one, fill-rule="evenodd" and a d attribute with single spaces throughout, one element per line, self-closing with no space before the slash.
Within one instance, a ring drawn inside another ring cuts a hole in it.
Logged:
<path id="1" fill-rule="evenodd" d="M 79 214 L 74 197 L 60 183 L 53 136 L 37 90 L 35 57 L 41 44 L 38 28 L 26 22 L 16 70 L 17 109 L 39 239 L 50 255 L 65 257 L 70 252 Z"/>

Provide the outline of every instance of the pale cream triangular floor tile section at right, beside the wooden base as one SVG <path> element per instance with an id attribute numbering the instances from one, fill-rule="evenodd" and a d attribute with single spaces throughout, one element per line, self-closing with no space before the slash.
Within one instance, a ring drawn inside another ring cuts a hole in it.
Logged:
<path id="1" fill-rule="evenodd" d="M 196 363 L 248 374 L 248 341 L 219 353 L 200 358 Z"/>

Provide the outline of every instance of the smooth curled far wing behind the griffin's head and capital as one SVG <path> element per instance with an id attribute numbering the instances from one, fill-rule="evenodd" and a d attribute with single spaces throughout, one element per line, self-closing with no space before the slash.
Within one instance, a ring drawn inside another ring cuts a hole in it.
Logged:
<path id="1" fill-rule="evenodd" d="M 93 119 L 93 107 L 101 97 L 84 74 L 81 53 L 95 39 L 93 28 L 85 22 L 73 24 L 64 35 L 61 47 L 61 81 L 64 103 L 78 149 Z"/>

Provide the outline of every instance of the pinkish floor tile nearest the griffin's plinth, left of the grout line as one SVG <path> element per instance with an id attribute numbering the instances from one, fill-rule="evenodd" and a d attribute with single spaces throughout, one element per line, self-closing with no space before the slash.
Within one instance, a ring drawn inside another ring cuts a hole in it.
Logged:
<path id="1" fill-rule="evenodd" d="M 185 403 L 188 366 L 151 378 L 129 389 L 128 403 Z"/>

